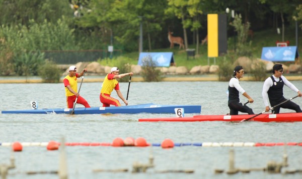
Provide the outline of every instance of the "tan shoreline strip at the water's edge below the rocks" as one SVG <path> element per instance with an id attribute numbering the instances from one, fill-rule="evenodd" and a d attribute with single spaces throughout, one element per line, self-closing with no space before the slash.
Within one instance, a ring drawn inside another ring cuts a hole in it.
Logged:
<path id="1" fill-rule="evenodd" d="M 285 76 L 287 80 L 289 81 L 297 81 L 302 80 L 302 76 Z M 87 83 L 93 83 L 93 82 L 103 82 L 105 76 L 86 76 L 85 82 Z M 132 82 L 143 82 L 143 78 L 140 76 L 133 76 L 131 79 Z M 181 82 L 181 81 L 218 81 L 217 75 L 203 75 L 203 76 L 169 76 L 164 77 L 163 82 Z M 240 79 L 240 81 L 254 81 L 253 77 L 245 76 L 244 78 Z M 60 83 L 62 83 L 62 79 L 60 80 Z M 22 77 L 5 77 L 0 78 L 0 84 L 4 83 L 42 83 L 42 79 L 38 77 L 32 77 L 32 78 L 22 78 Z"/>

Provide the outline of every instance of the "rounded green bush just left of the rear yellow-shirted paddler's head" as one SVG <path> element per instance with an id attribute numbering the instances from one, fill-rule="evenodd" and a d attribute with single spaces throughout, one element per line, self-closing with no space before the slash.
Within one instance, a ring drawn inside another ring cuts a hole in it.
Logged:
<path id="1" fill-rule="evenodd" d="M 59 83 L 61 70 L 53 61 L 46 61 L 38 69 L 38 75 L 42 78 L 43 83 Z"/>

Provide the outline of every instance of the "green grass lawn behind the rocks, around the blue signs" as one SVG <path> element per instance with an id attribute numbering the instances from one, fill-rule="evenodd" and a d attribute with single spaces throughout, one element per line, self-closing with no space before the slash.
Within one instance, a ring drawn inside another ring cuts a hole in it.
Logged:
<path id="1" fill-rule="evenodd" d="M 301 33 L 301 29 L 298 28 L 298 33 Z M 167 39 L 168 40 L 168 39 Z M 262 47 L 266 46 L 276 46 L 276 41 L 282 41 L 282 35 L 277 34 L 277 31 L 275 29 L 269 29 L 269 30 L 263 30 L 263 31 L 256 31 L 254 32 L 253 39 L 249 37 L 248 40 L 252 41 L 252 52 L 253 56 L 256 58 L 261 57 L 261 51 Z M 295 46 L 295 28 L 294 27 L 288 27 L 285 28 L 284 33 L 284 41 L 288 40 L 290 42 L 290 46 Z M 194 66 L 198 65 L 207 65 L 208 64 L 208 57 L 207 57 L 207 45 L 199 46 L 199 55 L 195 55 L 195 58 L 189 57 L 187 60 L 187 53 L 184 49 L 179 50 L 179 46 L 175 45 L 173 49 L 170 48 L 161 48 L 161 49 L 154 49 L 152 52 L 173 52 L 174 54 L 174 61 L 176 62 L 176 65 L 179 66 L 185 66 L 187 69 L 191 69 Z M 195 45 L 189 45 L 188 48 L 195 48 Z M 234 37 L 229 37 L 228 39 L 228 47 L 230 51 L 234 51 Z M 298 36 L 298 52 L 302 50 L 302 35 Z M 131 52 L 131 53 L 124 53 L 123 56 L 129 57 L 131 61 L 130 64 L 137 64 L 138 61 L 138 52 Z M 219 59 L 222 59 L 223 56 L 218 56 L 216 58 L 216 63 L 219 61 Z M 293 64 L 294 62 L 287 62 L 288 64 Z M 210 59 L 210 65 L 213 64 L 213 59 Z"/>

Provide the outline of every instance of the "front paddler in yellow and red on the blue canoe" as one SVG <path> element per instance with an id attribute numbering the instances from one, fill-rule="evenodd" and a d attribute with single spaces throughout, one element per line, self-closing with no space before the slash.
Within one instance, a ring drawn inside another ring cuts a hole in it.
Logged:
<path id="1" fill-rule="evenodd" d="M 121 106 L 120 102 L 117 99 L 110 97 L 110 94 L 113 91 L 113 89 L 115 89 L 118 97 L 120 97 L 121 100 L 123 100 L 124 103 L 128 105 L 127 100 L 124 99 L 121 91 L 119 90 L 119 83 L 116 79 L 123 78 L 125 76 L 132 76 L 132 75 L 133 75 L 132 72 L 119 75 L 119 70 L 117 67 L 113 67 L 111 69 L 111 73 L 106 75 L 102 84 L 100 101 L 101 103 L 103 103 L 103 107 L 109 107 L 110 104 L 115 106 Z"/>

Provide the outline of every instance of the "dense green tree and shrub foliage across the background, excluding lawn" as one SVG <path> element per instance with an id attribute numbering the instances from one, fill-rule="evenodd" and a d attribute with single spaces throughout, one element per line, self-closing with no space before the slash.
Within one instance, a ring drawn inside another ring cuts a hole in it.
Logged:
<path id="1" fill-rule="evenodd" d="M 166 48 L 171 30 L 183 33 L 186 47 L 196 41 L 198 52 L 199 34 L 207 31 L 206 14 L 222 14 L 226 8 L 241 14 L 241 24 L 250 23 L 254 31 L 282 22 L 283 35 L 293 17 L 302 19 L 301 6 L 300 0 L 0 0 L 0 70 L 2 75 L 17 72 L 17 61 L 25 63 L 30 51 L 106 49 L 108 45 L 137 51 L 140 23 L 143 51 Z M 246 36 L 241 32 L 238 42 L 244 44 Z M 241 44 L 238 48 L 247 49 Z"/>

